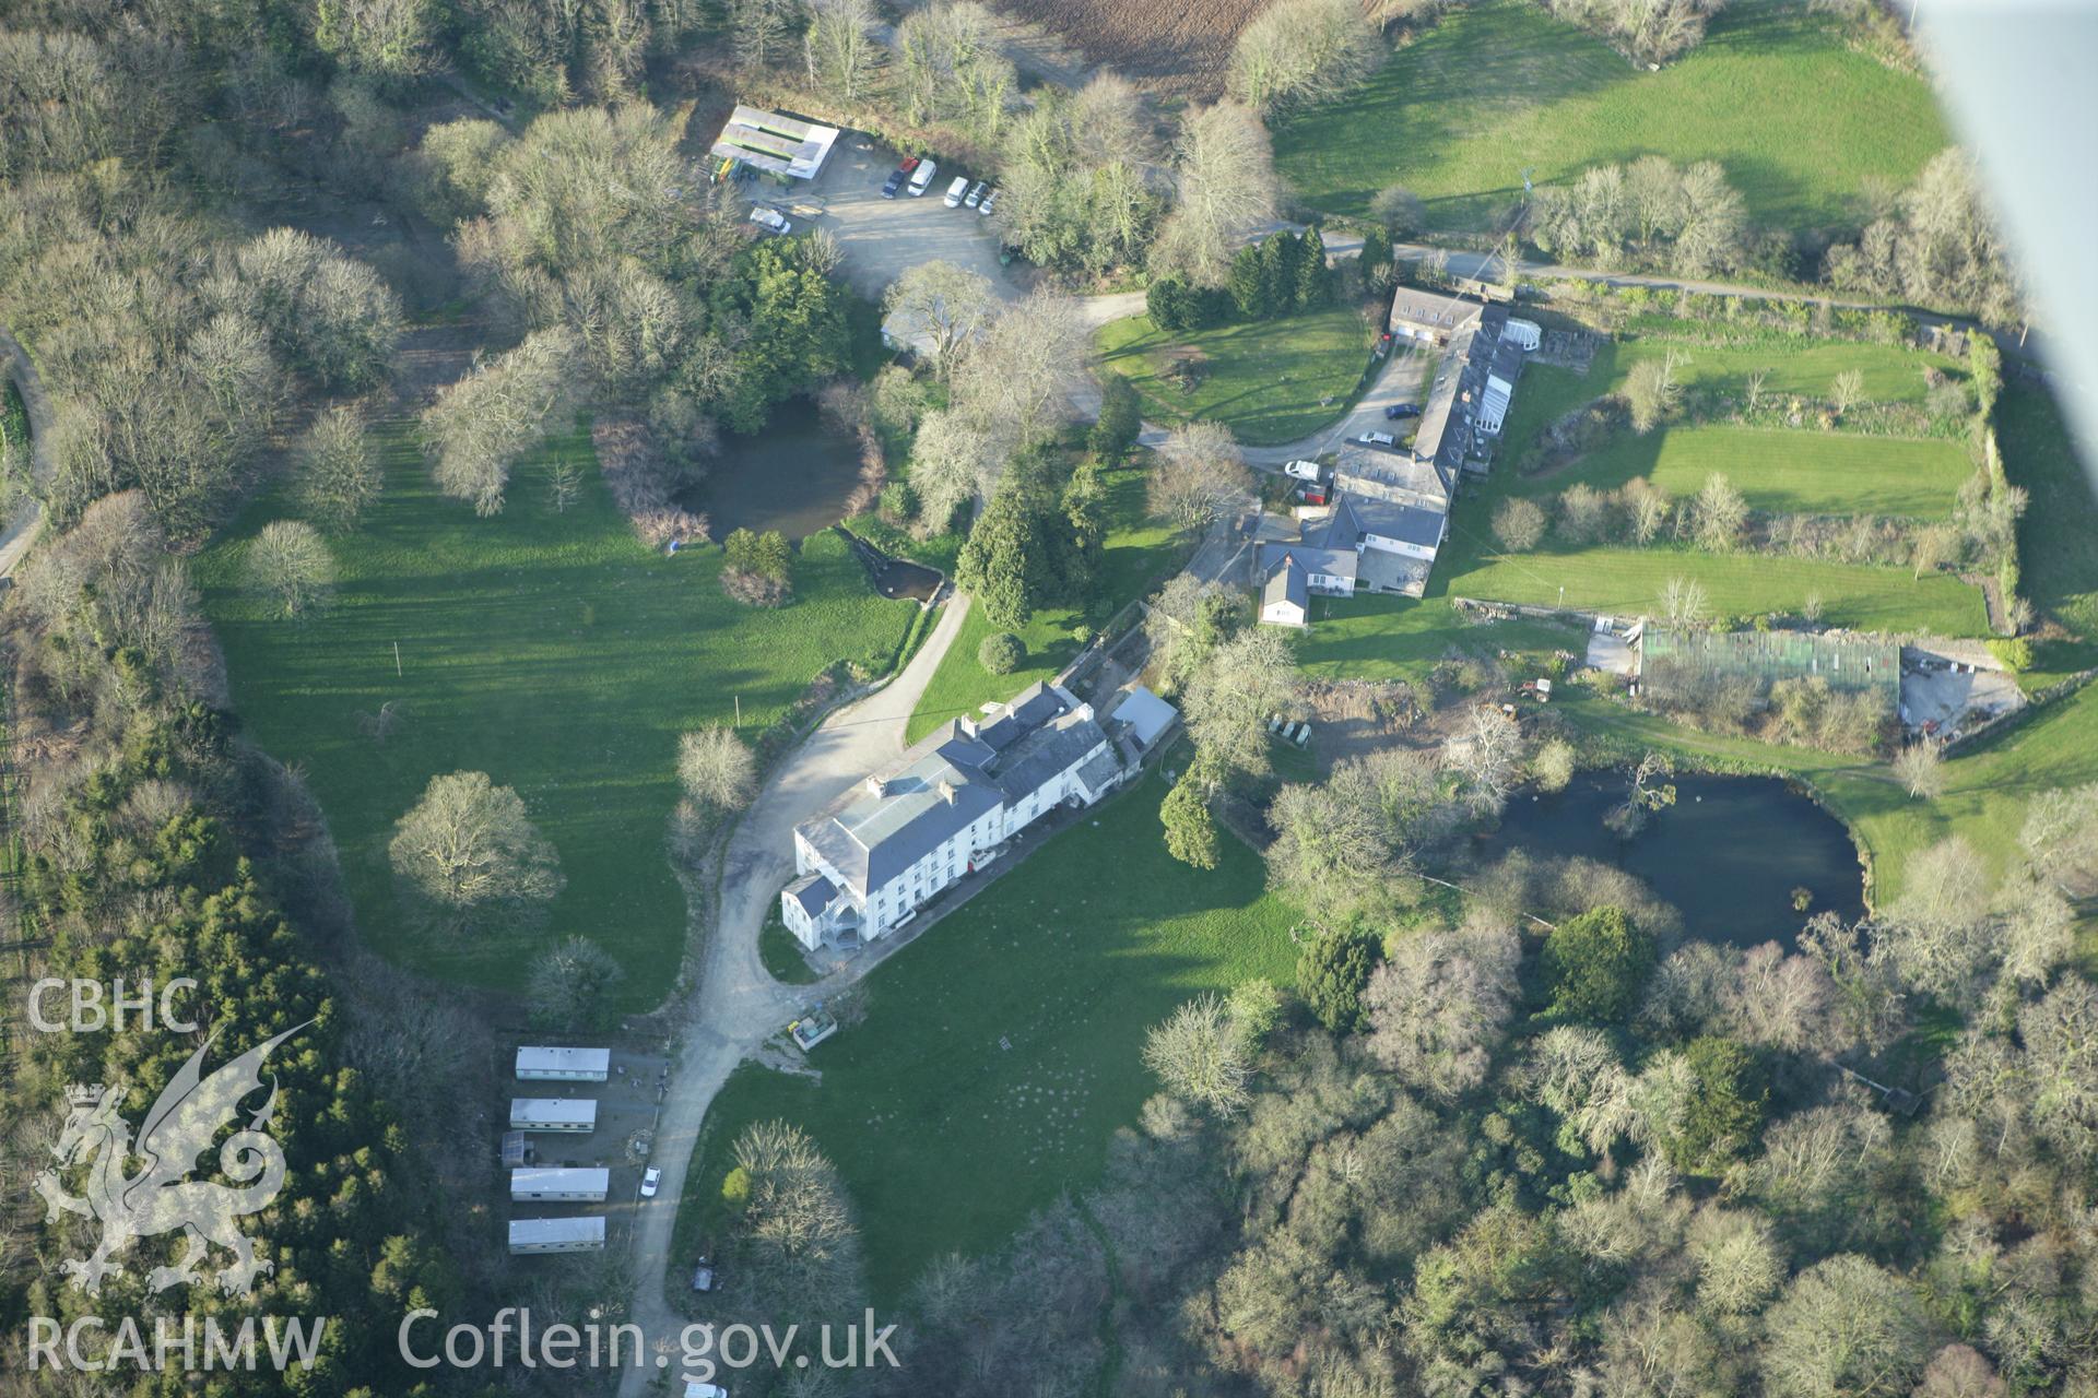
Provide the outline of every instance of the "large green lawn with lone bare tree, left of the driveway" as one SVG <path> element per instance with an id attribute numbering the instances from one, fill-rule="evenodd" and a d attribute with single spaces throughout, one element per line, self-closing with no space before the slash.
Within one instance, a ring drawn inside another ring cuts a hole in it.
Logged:
<path id="1" fill-rule="evenodd" d="M 682 729 L 751 738 L 833 660 L 887 667 L 913 604 L 883 602 L 835 534 L 804 547 L 795 602 L 755 612 L 720 585 L 720 549 L 644 549 L 596 469 L 569 514 L 545 505 L 545 457 L 590 463 L 590 436 L 552 442 L 489 520 L 445 497 L 394 440 L 369 526 L 336 543 L 338 602 L 298 625 L 239 587 L 262 499 L 197 564 L 248 734 L 302 767 L 327 811 L 365 939 L 418 973 L 516 989 L 533 952 L 581 933 L 627 968 L 617 1008 L 661 1000 L 686 905 L 663 851 Z M 401 673 L 394 673 L 399 646 Z M 384 744 L 361 715 L 397 704 Z M 487 771 L 524 796 L 560 851 L 566 891 L 543 929 L 436 939 L 401 916 L 386 866 L 394 820 L 432 776 Z"/>

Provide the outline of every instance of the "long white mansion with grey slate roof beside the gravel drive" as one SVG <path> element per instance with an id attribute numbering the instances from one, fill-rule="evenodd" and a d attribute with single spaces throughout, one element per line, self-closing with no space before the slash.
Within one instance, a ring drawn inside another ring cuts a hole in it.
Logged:
<path id="1" fill-rule="evenodd" d="M 1036 683 L 982 721 L 944 723 L 799 826 L 780 918 L 810 949 L 885 937 L 1005 840 L 1122 776 L 1093 706 Z"/>

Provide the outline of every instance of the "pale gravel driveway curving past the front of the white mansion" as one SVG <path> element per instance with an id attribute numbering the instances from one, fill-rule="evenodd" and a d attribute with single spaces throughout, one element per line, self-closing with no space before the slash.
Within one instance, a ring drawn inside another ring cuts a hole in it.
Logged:
<path id="1" fill-rule="evenodd" d="M 743 813 L 722 861 L 722 905 L 707 939 L 699 989 L 684 1025 L 684 1046 L 671 1069 L 663 1117 L 648 1157 L 663 1172 L 663 1188 L 642 1203 L 634 1226 L 634 1320 L 650 1344 L 676 1337 L 684 1318 L 665 1302 L 678 1201 L 699 1144 L 701 1123 L 728 1075 L 812 1000 L 835 996 L 879 958 L 862 956 L 814 985 L 780 985 L 757 956 L 757 931 L 778 891 L 793 876 L 793 828 L 871 769 L 904 750 L 904 727 L 940 658 L 946 656 L 969 614 L 969 599 L 952 597 L 911 664 L 858 704 L 831 715 L 780 763 Z M 638 1398 L 661 1371 L 627 1369 L 623 1398 Z M 673 1388 L 673 1392 L 680 1392 Z"/>

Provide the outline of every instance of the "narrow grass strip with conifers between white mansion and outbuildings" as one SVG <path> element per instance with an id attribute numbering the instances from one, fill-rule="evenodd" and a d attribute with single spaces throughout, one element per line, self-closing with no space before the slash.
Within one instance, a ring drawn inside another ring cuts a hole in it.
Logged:
<path id="1" fill-rule="evenodd" d="M 1106 625 L 1118 608 L 1156 587 L 1187 551 L 1173 528 L 1146 516 L 1143 478 L 1148 457 L 1108 472 L 1106 558 L 1093 587 L 1089 608 L 1045 608 L 1015 635 L 1026 646 L 1026 660 L 1011 675 L 992 675 L 976 662 L 976 650 L 997 627 L 984 608 L 971 606 L 961 633 L 940 660 L 917 713 L 911 715 L 906 740 L 917 742 L 940 723 L 976 713 L 986 702 L 1005 702 L 1036 679 L 1049 679 L 1078 654 L 1074 629 L 1085 622 Z"/>

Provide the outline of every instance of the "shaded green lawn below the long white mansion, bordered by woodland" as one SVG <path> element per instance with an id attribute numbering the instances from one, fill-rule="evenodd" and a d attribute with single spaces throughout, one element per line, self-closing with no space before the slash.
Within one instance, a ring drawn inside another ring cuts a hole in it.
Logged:
<path id="1" fill-rule="evenodd" d="M 866 1019 L 818 1046 L 820 1082 L 745 1067 L 707 1113 L 678 1214 L 697 1249 L 751 1121 L 787 1117 L 837 1161 L 875 1304 L 944 1253 L 997 1249 L 1099 1174 L 1156 1084 L 1143 1031 L 1204 989 L 1294 981 L 1297 914 L 1259 855 L 1223 840 L 1202 872 L 1164 853 L 1162 778 L 1015 857 L 1003 880 L 866 979 Z"/>

